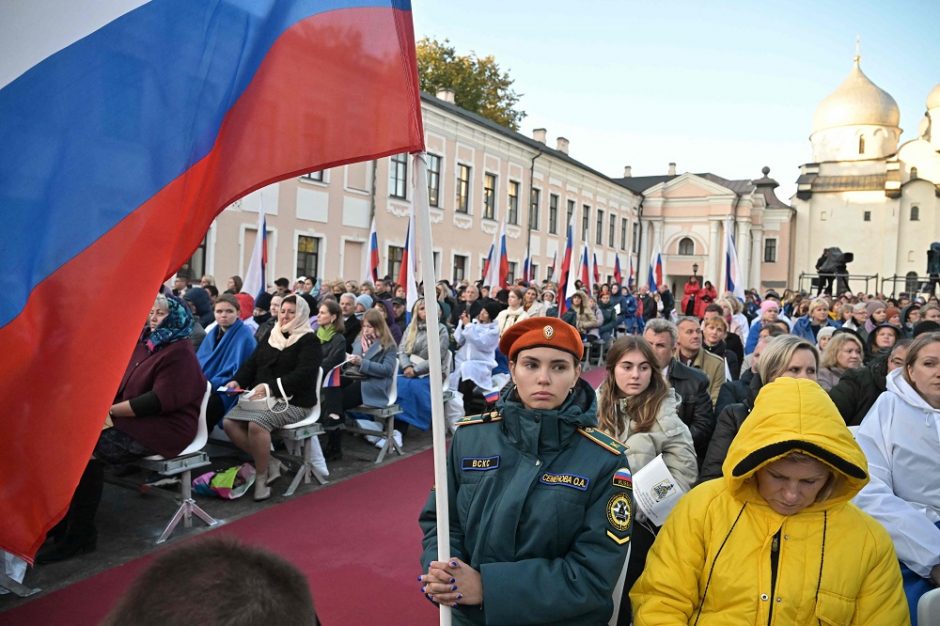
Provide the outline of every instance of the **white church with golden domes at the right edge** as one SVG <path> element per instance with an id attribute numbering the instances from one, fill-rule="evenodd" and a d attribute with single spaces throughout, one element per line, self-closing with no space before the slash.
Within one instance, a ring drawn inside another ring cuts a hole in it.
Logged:
<path id="1" fill-rule="evenodd" d="M 940 85 L 927 97 L 916 137 L 901 143 L 899 122 L 894 98 L 856 57 L 813 117 L 813 161 L 801 167 L 792 199 L 794 280 L 814 273 L 831 246 L 854 254 L 851 274 L 872 277 L 852 282 L 856 291 L 913 291 L 926 275 L 926 251 L 940 241 Z"/>

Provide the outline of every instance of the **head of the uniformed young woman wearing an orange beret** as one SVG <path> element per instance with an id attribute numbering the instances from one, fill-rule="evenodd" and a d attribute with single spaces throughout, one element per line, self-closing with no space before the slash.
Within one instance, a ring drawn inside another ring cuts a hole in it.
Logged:
<path id="1" fill-rule="evenodd" d="M 557 318 L 534 317 L 513 324 L 499 341 L 519 402 L 527 409 L 557 409 L 581 377 L 584 343 Z"/>

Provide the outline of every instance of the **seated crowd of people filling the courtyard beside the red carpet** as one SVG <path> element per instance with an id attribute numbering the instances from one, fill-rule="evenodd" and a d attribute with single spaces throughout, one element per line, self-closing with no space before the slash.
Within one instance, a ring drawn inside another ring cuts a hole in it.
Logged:
<path id="1" fill-rule="evenodd" d="M 449 413 L 469 417 L 450 422 L 453 558 L 437 560 L 432 497 L 422 591 L 461 623 L 503 620 L 520 598 L 533 623 L 913 620 L 940 581 L 935 298 L 742 301 L 695 277 L 677 303 L 666 285 L 576 286 L 562 302 L 550 282 L 442 280 L 429 320 L 424 297 L 408 311 L 388 280 L 279 278 L 255 300 L 237 276 L 222 293 L 211 276 L 178 279 L 37 561 L 95 548 L 103 466 L 185 448 L 207 383 L 209 427 L 252 457 L 256 500 L 281 474 L 271 432 L 309 413 L 318 368 L 342 366 L 320 390 L 323 472 L 342 425 L 385 406 L 396 377 L 404 445 L 430 428 L 436 332 Z M 595 345 L 596 391 L 580 377 Z M 661 526 L 631 493 L 658 458 L 687 492 Z"/>

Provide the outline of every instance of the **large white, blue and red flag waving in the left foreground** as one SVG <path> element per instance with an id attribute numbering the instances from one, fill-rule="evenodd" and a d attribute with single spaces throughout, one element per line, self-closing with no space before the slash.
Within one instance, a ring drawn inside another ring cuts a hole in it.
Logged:
<path id="1" fill-rule="evenodd" d="M 0 23 L 0 548 L 29 559 L 213 218 L 423 130 L 407 0 L 30 0 Z"/>

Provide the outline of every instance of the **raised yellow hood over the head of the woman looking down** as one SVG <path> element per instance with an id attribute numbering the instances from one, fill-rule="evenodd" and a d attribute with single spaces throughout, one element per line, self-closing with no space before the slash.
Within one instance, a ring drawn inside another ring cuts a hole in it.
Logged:
<path id="1" fill-rule="evenodd" d="M 764 385 L 754 409 L 728 448 L 722 473 L 731 492 L 760 497 L 748 480 L 758 469 L 799 451 L 836 472 L 832 494 L 816 506 L 851 500 L 868 483 L 868 462 L 839 410 L 810 380 L 778 378 Z"/>

